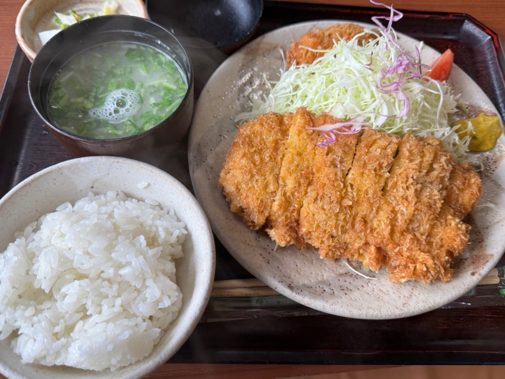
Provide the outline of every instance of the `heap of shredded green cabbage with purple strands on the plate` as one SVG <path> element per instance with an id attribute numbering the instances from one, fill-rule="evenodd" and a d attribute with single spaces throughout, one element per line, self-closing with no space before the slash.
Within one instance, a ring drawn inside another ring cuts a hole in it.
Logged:
<path id="1" fill-rule="evenodd" d="M 422 44 L 415 52 L 406 52 L 396 43 L 391 21 L 401 14 L 388 8 L 391 16 L 387 27 L 378 18 L 373 19 L 379 25 L 373 32 L 375 40 L 363 46 L 358 44 L 359 36 L 349 42 L 335 41 L 333 48 L 323 51 L 325 54 L 314 63 L 284 67 L 277 82 L 267 83 L 268 94 L 263 99 L 251 99 L 252 110 L 239 114 L 236 121 L 306 107 L 316 114 L 328 113 L 349 121 L 317 129 L 326 136 L 326 144 L 335 134 L 369 127 L 398 135 L 411 132 L 439 138 L 456 159 L 464 160 L 469 138 L 460 139 L 450 125 L 451 115 L 458 110 L 456 97 L 447 83 L 423 76 L 430 67 L 421 63 Z"/>

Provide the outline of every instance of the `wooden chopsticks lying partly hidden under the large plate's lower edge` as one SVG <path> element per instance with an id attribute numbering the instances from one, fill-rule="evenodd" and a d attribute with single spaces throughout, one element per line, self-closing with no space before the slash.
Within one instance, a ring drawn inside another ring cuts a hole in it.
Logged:
<path id="1" fill-rule="evenodd" d="M 493 268 L 478 284 L 499 285 L 503 278 L 503 267 Z M 263 283 L 260 279 L 216 280 L 212 286 L 211 297 L 252 297 L 273 296 L 279 293 Z"/>

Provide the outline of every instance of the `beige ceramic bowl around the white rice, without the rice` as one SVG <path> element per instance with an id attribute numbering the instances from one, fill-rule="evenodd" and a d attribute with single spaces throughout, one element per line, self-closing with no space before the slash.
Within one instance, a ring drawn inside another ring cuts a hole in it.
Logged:
<path id="1" fill-rule="evenodd" d="M 0 341 L 0 373 L 11 378 L 136 378 L 165 363 L 186 341 L 203 314 L 210 297 L 215 270 L 215 247 L 206 215 L 188 189 L 166 172 L 135 160 L 85 157 L 65 161 L 25 179 L 0 200 L 0 254 L 15 240 L 15 233 L 65 202 L 75 203 L 90 192 L 123 192 L 139 201 L 153 199 L 172 208 L 185 223 L 183 256 L 175 260 L 176 282 L 182 305 L 165 334 L 146 357 L 120 367 L 94 371 L 65 365 L 21 363 L 11 341 Z"/>

